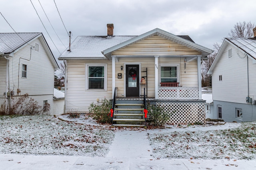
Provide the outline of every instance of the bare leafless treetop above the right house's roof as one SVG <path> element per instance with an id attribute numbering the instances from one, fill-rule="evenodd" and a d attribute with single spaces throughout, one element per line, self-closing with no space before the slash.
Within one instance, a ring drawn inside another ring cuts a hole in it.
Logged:
<path id="1" fill-rule="evenodd" d="M 254 23 L 250 22 L 237 22 L 236 25 L 234 25 L 234 29 L 230 30 L 230 33 L 228 33 L 229 37 L 237 37 L 237 38 L 251 38 L 253 37 L 253 31 L 252 29 L 255 27 Z"/>

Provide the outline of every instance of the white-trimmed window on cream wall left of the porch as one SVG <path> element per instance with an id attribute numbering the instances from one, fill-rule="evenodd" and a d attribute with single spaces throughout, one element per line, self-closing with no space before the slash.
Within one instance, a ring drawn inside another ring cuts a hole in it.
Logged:
<path id="1" fill-rule="evenodd" d="M 106 90 L 107 64 L 86 64 L 86 89 Z"/>

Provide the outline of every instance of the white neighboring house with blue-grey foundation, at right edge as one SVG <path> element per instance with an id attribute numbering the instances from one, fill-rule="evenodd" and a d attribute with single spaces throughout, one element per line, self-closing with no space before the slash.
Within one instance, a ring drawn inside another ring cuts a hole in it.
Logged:
<path id="1" fill-rule="evenodd" d="M 212 74 L 214 119 L 256 121 L 256 28 L 254 38 L 225 38 Z"/>

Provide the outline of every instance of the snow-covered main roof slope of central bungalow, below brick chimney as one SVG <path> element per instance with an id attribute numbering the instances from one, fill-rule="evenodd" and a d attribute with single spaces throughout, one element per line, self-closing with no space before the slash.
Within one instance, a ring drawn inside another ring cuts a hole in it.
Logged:
<path id="1" fill-rule="evenodd" d="M 137 36 L 78 36 L 72 42 L 70 51 L 64 51 L 59 59 L 65 57 L 104 57 L 103 50 L 118 45 Z"/>

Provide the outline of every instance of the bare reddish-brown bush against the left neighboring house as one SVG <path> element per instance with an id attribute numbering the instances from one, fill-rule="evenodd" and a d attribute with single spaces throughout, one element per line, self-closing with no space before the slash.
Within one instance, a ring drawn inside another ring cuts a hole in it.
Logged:
<path id="1" fill-rule="evenodd" d="M 29 98 L 28 94 L 11 98 L 11 106 L 6 101 L 1 105 L 0 113 L 2 115 L 41 115 L 49 113 L 50 104 L 46 104 L 43 108 L 33 98 Z"/>

